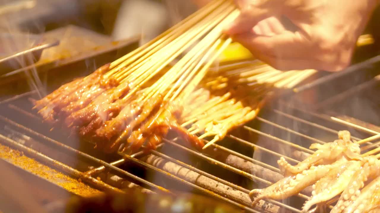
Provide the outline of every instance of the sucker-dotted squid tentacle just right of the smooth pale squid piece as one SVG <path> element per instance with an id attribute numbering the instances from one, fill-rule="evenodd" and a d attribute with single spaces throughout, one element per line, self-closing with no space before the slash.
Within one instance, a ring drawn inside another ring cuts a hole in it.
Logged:
<path id="1" fill-rule="evenodd" d="M 363 158 L 362 163 L 363 166 L 352 175 L 347 188 L 339 197 L 331 213 L 341 213 L 345 210 L 345 208 L 355 202 L 358 196 L 360 196 L 360 189 L 363 188 L 364 182 L 366 182 L 368 178 L 374 178 L 380 175 L 380 161 L 374 156 Z"/>

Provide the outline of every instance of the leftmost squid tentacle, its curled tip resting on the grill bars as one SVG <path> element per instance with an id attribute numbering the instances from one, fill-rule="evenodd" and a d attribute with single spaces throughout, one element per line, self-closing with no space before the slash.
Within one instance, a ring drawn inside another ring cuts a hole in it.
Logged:
<path id="1" fill-rule="evenodd" d="M 284 177 L 278 182 L 264 189 L 254 189 L 249 193 L 252 206 L 255 206 L 261 199 L 285 199 L 287 197 L 298 194 L 305 187 L 312 185 L 327 174 L 327 172 L 340 165 L 340 162 L 331 165 L 311 166 L 309 170 L 304 170 L 302 173 Z"/>

